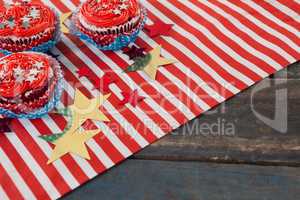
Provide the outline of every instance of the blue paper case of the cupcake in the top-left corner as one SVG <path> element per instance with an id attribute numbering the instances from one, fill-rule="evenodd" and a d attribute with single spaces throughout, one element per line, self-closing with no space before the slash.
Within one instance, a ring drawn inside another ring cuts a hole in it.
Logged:
<path id="1" fill-rule="evenodd" d="M 52 49 L 57 42 L 59 42 L 60 38 L 61 38 L 61 28 L 60 28 L 60 18 L 59 18 L 59 14 L 53 10 L 53 12 L 56 15 L 56 25 L 55 25 L 55 33 L 54 33 L 54 37 L 52 38 L 52 40 L 49 40 L 47 42 L 44 42 L 42 44 L 39 44 L 38 46 L 32 47 L 31 49 L 25 50 L 25 51 L 33 51 L 33 52 L 42 52 L 42 53 L 46 53 L 48 52 L 50 49 Z M 0 53 L 4 54 L 4 55 L 10 55 L 12 53 L 16 53 L 16 52 L 11 52 L 8 51 L 6 49 L 1 49 L 0 48 Z"/>

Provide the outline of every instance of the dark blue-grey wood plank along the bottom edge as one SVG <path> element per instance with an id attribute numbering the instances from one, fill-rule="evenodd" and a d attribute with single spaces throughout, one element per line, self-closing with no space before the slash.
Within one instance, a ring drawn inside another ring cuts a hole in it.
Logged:
<path id="1" fill-rule="evenodd" d="M 295 200 L 299 198 L 299 168 L 128 160 L 63 199 Z"/>

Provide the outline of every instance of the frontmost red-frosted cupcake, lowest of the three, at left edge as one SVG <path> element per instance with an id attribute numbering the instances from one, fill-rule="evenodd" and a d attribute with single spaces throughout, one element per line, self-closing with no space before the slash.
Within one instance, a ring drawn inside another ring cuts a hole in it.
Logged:
<path id="1" fill-rule="evenodd" d="M 57 95 L 60 79 L 58 62 L 45 54 L 20 52 L 1 58 L 0 114 L 16 117 L 43 108 Z"/>

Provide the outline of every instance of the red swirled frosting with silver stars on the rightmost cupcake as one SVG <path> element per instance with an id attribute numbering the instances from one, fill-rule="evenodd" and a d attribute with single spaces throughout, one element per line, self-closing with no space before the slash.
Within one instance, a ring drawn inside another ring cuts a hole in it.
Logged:
<path id="1" fill-rule="evenodd" d="M 87 23 L 108 28 L 139 15 L 140 5 L 137 0 L 88 0 L 81 6 L 80 14 Z"/>

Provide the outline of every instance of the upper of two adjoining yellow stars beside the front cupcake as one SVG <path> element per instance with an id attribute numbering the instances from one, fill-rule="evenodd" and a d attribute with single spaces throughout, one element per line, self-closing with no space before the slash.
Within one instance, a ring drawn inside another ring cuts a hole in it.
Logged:
<path id="1" fill-rule="evenodd" d="M 80 90 L 76 90 L 74 104 L 69 106 L 74 116 L 78 116 L 79 121 L 86 121 L 88 119 L 97 121 L 110 121 L 102 111 L 100 106 L 109 98 L 108 95 L 100 95 L 99 97 L 88 99 Z M 75 119 L 76 120 L 76 119 Z"/>

